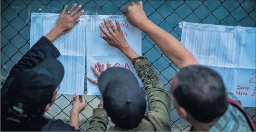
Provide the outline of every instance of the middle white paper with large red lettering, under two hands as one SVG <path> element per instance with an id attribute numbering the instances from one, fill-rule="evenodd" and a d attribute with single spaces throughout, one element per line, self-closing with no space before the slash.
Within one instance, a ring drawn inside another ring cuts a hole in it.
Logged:
<path id="1" fill-rule="evenodd" d="M 130 62 L 130 60 L 127 59 L 127 57 L 121 53 L 121 51 L 115 47 L 109 46 L 106 41 L 100 37 L 104 34 L 101 32 L 99 25 L 103 26 L 107 31 L 103 22 L 104 18 L 110 18 L 113 23 L 115 23 L 115 19 L 117 19 L 126 38 L 126 41 L 138 55 L 141 55 L 141 31 L 128 23 L 126 21 L 126 17 L 122 15 L 89 15 L 87 21 L 88 26 L 86 36 L 87 77 L 97 79 L 91 69 L 91 66 L 98 70 L 99 68 L 97 67 L 96 63 L 101 62 L 102 68 L 106 70 L 106 63 L 110 62 L 111 66 L 119 66 L 132 71 L 142 86 L 141 80 L 137 76 L 136 71 L 133 68 L 133 64 Z M 101 95 L 98 86 L 88 80 L 87 95 Z"/>

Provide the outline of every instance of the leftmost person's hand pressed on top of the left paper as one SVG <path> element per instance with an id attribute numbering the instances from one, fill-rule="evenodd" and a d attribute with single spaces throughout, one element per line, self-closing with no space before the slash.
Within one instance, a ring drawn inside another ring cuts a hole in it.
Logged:
<path id="1" fill-rule="evenodd" d="M 71 30 L 78 22 L 79 22 L 79 17 L 83 14 L 84 10 L 81 10 L 78 14 L 77 12 L 82 8 L 82 5 L 79 5 L 76 9 L 77 4 L 74 4 L 66 13 L 66 9 L 68 5 L 64 6 L 64 9 L 62 13 L 60 14 L 55 28 L 61 32 L 61 34 L 68 32 Z M 65 14 L 66 13 L 66 14 Z"/>

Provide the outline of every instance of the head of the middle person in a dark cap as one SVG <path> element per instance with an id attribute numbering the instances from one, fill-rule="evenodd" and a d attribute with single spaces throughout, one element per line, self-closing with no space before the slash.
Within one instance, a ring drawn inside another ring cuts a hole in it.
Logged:
<path id="1" fill-rule="evenodd" d="M 135 75 L 121 67 L 106 69 L 98 79 L 104 109 L 116 127 L 132 129 L 145 114 L 145 92 Z"/>

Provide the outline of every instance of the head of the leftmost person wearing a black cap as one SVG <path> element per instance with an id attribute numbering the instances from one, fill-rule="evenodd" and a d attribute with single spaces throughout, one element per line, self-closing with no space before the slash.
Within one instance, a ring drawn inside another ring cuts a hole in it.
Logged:
<path id="1" fill-rule="evenodd" d="M 41 116 L 53 105 L 63 76 L 63 65 L 54 58 L 20 72 L 8 90 L 10 110 L 26 117 Z"/>

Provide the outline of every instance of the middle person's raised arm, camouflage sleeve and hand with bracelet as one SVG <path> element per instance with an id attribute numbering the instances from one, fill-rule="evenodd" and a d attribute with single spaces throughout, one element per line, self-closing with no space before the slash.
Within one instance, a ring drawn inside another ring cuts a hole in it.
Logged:
<path id="1" fill-rule="evenodd" d="M 148 60 L 145 57 L 139 57 L 130 48 L 118 21 L 116 20 L 117 29 L 110 19 L 104 20 L 104 23 L 109 33 L 100 26 L 101 31 L 106 35 L 102 38 L 109 45 L 121 50 L 131 62 L 135 63 L 134 68 L 144 84 L 145 91 L 147 91 L 148 119 L 154 125 L 156 131 L 170 131 L 170 106 L 172 101 L 169 92 L 163 88 L 158 74 L 150 66 Z"/>

